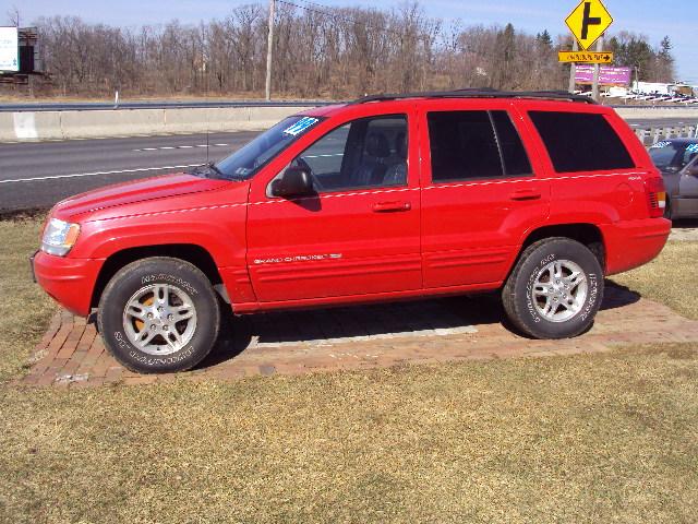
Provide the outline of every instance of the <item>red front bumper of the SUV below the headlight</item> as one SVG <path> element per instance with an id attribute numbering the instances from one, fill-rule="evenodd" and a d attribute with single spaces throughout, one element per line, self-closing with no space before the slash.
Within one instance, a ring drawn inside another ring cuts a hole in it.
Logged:
<path id="1" fill-rule="evenodd" d="M 38 251 L 29 259 L 39 286 L 58 303 L 74 314 L 87 317 L 100 259 L 71 259 Z"/>

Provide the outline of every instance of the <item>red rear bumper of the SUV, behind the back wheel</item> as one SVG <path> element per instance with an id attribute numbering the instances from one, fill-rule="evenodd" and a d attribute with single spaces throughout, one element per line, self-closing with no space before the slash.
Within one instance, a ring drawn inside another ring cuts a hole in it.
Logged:
<path id="1" fill-rule="evenodd" d="M 624 221 L 601 227 L 606 247 L 606 275 L 638 267 L 664 248 L 672 223 L 665 218 Z"/>

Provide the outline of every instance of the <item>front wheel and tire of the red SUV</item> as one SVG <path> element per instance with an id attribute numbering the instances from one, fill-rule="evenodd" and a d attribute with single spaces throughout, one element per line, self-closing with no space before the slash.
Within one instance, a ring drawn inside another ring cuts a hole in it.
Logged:
<path id="1" fill-rule="evenodd" d="M 105 346 L 125 368 L 170 373 L 191 369 L 208 355 L 220 310 L 201 270 L 156 257 L 122 267 L 109 281 L 97 322 Z"/>

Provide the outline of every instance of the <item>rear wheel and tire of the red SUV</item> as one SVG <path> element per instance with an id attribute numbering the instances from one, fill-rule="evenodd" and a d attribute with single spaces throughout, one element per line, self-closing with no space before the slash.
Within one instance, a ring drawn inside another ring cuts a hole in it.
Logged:
<path id="1" fill-rule="evenodd" d="M 571 278 L 576 272 L 583 278 Z M 555 278 L 555 274 L 562 276 Z M 568 338 L 593 324 L 603 283 L 603 270 L 589 248 L 569 238 L 546 238 L 521 253 L 502 290 L 502 301 L 522 333 Z"/>

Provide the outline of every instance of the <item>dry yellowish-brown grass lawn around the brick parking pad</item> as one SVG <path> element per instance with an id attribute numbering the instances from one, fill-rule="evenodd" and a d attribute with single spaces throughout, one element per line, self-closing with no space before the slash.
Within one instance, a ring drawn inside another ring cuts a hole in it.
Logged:
<path id="1" fill-rule="evenodd" d="M 696 520 L 695 347 L 21 389 L 53 311 L 27 282 L 37 228 L 0 223 L 1 522 Z M 697 255 L 614 281 L 697 318 Z"/>

